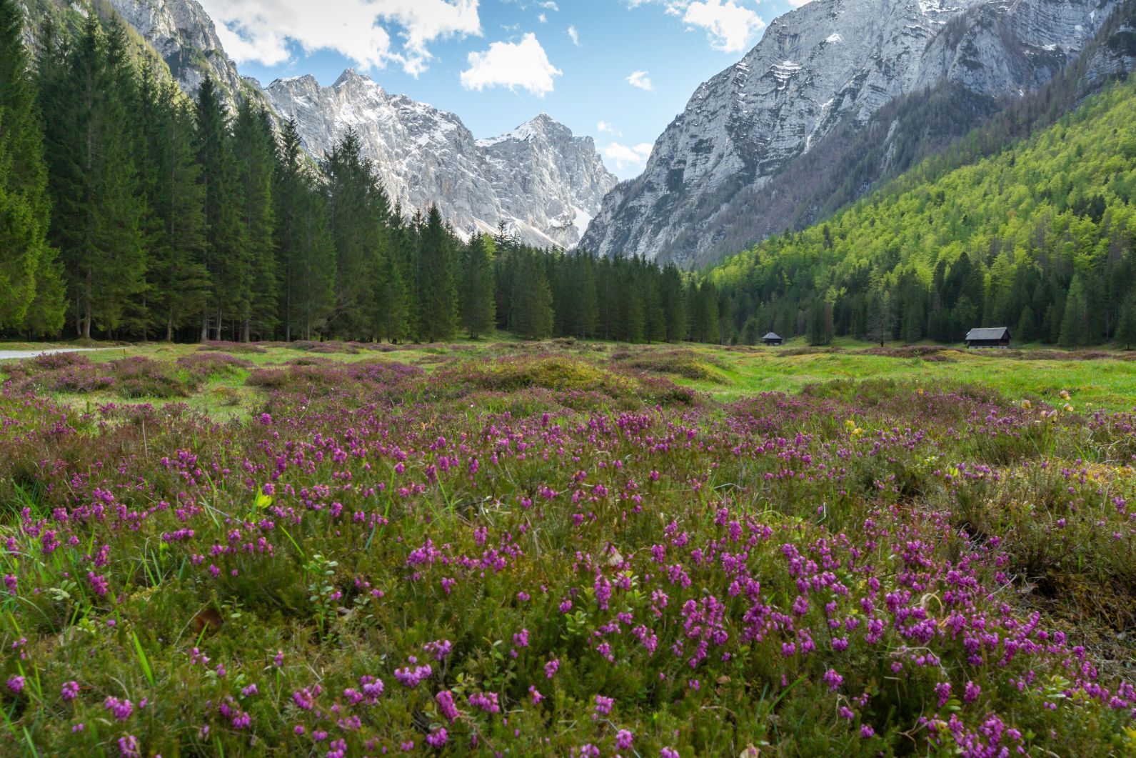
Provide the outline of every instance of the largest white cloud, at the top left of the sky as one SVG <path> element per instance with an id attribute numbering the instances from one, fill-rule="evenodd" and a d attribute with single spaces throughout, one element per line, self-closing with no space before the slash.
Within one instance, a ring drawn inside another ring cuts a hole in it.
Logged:
<path id="1" fill-rule="evenodd" d="M 417 76 L 433 57 L 432 42 L 482 33 L 478 0 L 202 0 L 201 5 L 217 23 L 229 57 L 266 66 L 287 61 L 292 41 L 306 53 L 334 50 L 367 69 L 395 63 Z"/>

